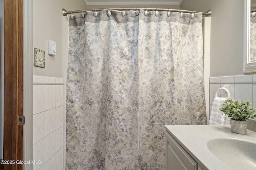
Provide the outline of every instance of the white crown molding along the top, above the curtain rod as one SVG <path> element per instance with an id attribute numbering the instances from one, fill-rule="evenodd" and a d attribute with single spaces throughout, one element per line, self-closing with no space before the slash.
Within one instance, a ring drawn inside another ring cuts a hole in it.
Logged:
<path id="1" fill-rule="evenodd" d="M 86 5 L 180 5 L 182 0 L 177 1 L 151 1 L 151 2 L 144 2 L 144 1 L 105 1 L 105 2 L 88 2 L 88 0 L 84 0 Z"/>

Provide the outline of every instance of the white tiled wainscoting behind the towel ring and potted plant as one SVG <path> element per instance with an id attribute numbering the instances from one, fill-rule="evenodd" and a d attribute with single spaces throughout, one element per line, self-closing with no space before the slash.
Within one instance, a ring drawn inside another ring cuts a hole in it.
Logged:
<path id="1" fill-rule="evenodd" d="M 217 90 L 225 85 L 228 86 L 231 99 L 243 100 L 244 102 L 249 100 L 252 106 L 256 108 L 256 74 L 210 77 L 210 112 Z M 218 97 L 226 98 L 228 96 L 224 90 L 219 90 Z M 255 123 L 256 121 L 253 122 Z"/>

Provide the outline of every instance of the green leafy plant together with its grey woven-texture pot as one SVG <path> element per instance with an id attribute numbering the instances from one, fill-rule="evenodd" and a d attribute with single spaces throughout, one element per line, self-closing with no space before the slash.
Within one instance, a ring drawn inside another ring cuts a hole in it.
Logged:
<path id="1" fill-rule="evenodd" d="M 246 134 L 247 130 L 247 119 L 254 119 L 256 114 L 254 113 L 254 107 L 250 106 L 251 103 L 249 100 L 246 102 L 241 100 L 239 104 L 238 100 L 226 99 L 220 108 L 220 111 L 223 111 L 224 114 L 230 119 L 231 131 L 238 134 Z M 223 114 L 222 113 L 222 114 Z"/>

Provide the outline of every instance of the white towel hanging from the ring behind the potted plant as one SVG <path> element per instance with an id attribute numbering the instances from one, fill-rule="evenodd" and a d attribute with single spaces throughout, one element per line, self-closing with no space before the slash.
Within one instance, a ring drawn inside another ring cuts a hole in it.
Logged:
<path id="1" fill-rule="evenodd" d="M 223 125 L 225 122 L 225 114 L 220 111 L 220 105 L 226 100 L 226 98 L 215 97 L 212 103 L 212 111 L 210 114 L 209 125 Z M 227 117 L 228 118 L 228 117 Z M 229 118 L 226 119 L 228 123 Z"/>

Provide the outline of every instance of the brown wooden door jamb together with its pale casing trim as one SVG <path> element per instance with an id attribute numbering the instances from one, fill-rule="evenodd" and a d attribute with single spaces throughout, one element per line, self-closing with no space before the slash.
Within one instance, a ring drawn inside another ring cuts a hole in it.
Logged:
<path id="1" fill-rule="evenodd" d="M 4 30 L 6 30 L 4 32 L 4 160 L 31 162 L 33 160 L 33 0 L 4 0 L 4 16 L 7 18 L 4 20 Z M 12 95 L 14 97 L 9 97 Z M 22 114 L 26 117 L 24 127 L 17 125 L 18 115 Z M 8 133 L 12 135 L 6 136 Z M 33 165 L 4 166 L 4 170 L 22 168 L 32 170 Z"/>

